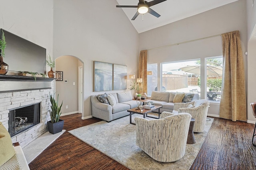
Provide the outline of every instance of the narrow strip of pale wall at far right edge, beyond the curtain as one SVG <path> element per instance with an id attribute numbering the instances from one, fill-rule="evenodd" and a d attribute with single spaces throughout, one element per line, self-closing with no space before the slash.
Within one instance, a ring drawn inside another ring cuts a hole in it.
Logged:
<path id="1" fill-rule="evenodd" d="M 256 3 L 256 2 L 255 2 Z M 250 123 L 255 123 L 256 119 L 252 115 L 250 103 L 256 102 L 256 4 L 252 8 L 252 2 L 247 1 L 247 21 L 248 21 L 248 55 L 247 55 L 247 118 Z"/>

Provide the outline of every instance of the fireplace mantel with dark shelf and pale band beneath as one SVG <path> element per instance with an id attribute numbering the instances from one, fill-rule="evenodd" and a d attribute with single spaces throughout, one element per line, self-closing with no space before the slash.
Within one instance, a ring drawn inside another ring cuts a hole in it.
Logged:
<path id="1" fill-rule="evenodd" d="M 37 89 L 51 89 L 51 82 L 55 78 L 30 76 L 0 75 L 0 93 L 17 92 Z"/>

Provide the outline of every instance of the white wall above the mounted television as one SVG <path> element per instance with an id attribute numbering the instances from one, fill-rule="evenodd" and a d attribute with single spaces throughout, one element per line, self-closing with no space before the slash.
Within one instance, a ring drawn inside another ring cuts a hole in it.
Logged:
<path id="1" fill-rule="evenodd" d="M 46 48 L 47 54 L 52 53 L 53 1 L 0 0 L 0 28 Z"/>

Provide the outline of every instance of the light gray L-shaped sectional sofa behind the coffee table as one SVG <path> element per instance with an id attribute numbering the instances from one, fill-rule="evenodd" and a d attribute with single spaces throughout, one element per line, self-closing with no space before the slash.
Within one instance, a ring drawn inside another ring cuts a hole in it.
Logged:
<path id="1" fill-rule="evenodd" d="M 158 92 L 153 91 L 151 94 L 151 100 L 154 102 L 154 105 L 163 106 L 160 109 L 160 113 L 163 111 L 172 112 L 174 109 L 174 96 L 176 92 Z M 105 95 L 105 96 L 104 96 Z M 103 98 L 100 99 L 99 96 Z M 104 98 L 108 100 L 104 100 Z M 112 96 L 112 97 L 111 97 Z M 199 100 L 199 95 L 194 94 L 193 98 L 190 98 L 190 101 Z M 101 102 L 100 102 L 101 101 Z M 147 101 L 147 102 L 148 102 Z M 104 103 L 105 102 L 105 103 Z M 144 105 L 147 104 L 144 102 Z M 132 94 L 130 91 L 120 92 L 120 93 L 111 93 L 111 94 L 100 94 L 91 96 L 91 105 L 92 105 L 92 116 L 105 121 L 112 121 L 120 117 L 129 115 L 128 109 L 137 107 L 137 101 L 132 100 Z"/>

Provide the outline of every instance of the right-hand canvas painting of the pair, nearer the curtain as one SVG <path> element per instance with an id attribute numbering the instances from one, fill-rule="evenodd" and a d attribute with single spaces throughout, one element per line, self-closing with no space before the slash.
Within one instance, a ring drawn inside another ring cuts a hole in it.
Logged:
<path id="1" fill-rule="evenodd" d="M 127 66 L 113 64 L 114 90 L 127 88 Z"/>

